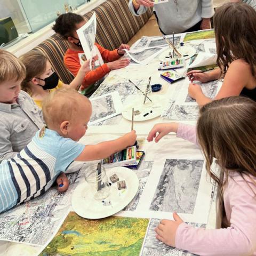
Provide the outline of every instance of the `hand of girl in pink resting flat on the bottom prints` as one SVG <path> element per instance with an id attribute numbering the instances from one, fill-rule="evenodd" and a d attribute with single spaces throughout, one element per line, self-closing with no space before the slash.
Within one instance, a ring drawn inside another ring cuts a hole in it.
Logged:
<path id="1" fill-rule="evenodd" d="M 175 236 L 178 227 L 183 222 L 177 213 L 173 213 L 173 220 L 161 220 L 158 227 L 155 228 L 156 238 L 161 242 L 175 247 Z"/>

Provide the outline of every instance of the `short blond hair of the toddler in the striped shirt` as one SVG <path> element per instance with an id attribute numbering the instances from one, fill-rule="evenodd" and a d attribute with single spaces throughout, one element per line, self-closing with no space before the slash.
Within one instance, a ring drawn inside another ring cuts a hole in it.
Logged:
<path id="1" fill-rule="evenodd" d="M 47 126 L 58 127 L 63 121 L 73 121 L 81 113 L 81 101 L 91 106 L 90 100 L 74 89 L 63 88 L 50 93 L 42 104 L 44 121 Z"/>

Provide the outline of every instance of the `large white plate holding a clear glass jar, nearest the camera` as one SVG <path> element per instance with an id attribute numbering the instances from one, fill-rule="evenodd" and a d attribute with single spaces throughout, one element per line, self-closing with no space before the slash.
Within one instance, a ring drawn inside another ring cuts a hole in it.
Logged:
<path id="1" fill-rule="evenodd" d="M 116 174 L 119 180 L 124 180 L 126 188 L 117 189 L 117 182 L 110 186 L 110 195 L 101 201 L 94 199 L 90 193 L 90 185 L 86 181 L 79 184 L 72 195 L 73 210 L 86 219 L 102 219 L 124 209 L 137 194 L 139 180 L 134 171 L 125 167 L 106 169 L 108 177 Z"/>

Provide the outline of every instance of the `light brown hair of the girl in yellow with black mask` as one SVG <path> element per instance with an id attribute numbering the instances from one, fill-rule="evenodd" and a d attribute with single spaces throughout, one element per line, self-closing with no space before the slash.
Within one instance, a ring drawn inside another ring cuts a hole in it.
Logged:
<path id="1" fill-rule="evenodd" d="M 26 67 L 26 77 L 21 83 L 21 90 L 31 96 L 30 81 L 41 76 L 46 70 L 47 57 L 40 52 L 30 51 L 19 57 Z"/>

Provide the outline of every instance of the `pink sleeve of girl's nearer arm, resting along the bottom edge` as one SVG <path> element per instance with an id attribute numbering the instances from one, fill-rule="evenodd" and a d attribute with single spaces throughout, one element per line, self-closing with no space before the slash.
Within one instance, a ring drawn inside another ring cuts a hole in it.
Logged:
<path id="1" fill-rule="evenodd" d="M 225 191 L 230 227 L 205 230 L 182 223 L 175 237 L 177 248 L 199 255 L 256 255 L 256 198 L 241 179 L 229 179 Z"/>

